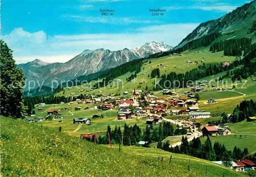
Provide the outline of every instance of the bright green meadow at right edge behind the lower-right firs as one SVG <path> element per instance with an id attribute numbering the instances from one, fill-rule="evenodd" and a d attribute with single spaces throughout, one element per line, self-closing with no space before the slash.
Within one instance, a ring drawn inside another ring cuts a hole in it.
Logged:
<path id="1" fill-rule="evenodd" d="M 220 137 L 210 137 L 211 141 L 219 141 L 221 144 L 224 144 L 227 149 L 233 150 L 234 146 L 237 146 L 241 149 L 247 147 L 249 153 L 252 153 L 256 150 L 256 122 L 246 122 L 246 120 L 238 123 L 229 123 L 227 124 L 231 129 L 231 133 L 236 133 L 237 136 L 229 135 L 229 136 L 220 136 Z M 242 134 L 242 138 L 240 138 L 240 134 Z M 248 135 L 244 135 L 248 134 Z M 254 136 L 253 136 L 254 135 Z M 201 137 L 201 141 L 204 142 L 206 137 Z"/>

